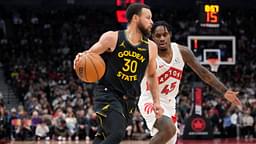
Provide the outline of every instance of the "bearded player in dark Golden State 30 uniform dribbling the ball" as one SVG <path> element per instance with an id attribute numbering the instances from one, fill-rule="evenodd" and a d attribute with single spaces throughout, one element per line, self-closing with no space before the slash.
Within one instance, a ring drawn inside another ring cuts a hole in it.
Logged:
<path id="1" fill-rule="evenodd" d="M 135 3 L 127 8 L 126 17 L 126 30 L 104 33 L 97 43 L 88 51 L 78 53 L 74 60 L 75 67 L 81 55 L 93 52 L 102 54 L 106 63 L 105 75 L 94 91 L 94 109 L 100 125 L 95 144 L 122 141 L 136 108 L 144 75 L 150 84 L 156 118 L 163 113 L 155 75 L 157 46 L 146 37 L 153 24 L 152 13 L 149 6 Z"/>

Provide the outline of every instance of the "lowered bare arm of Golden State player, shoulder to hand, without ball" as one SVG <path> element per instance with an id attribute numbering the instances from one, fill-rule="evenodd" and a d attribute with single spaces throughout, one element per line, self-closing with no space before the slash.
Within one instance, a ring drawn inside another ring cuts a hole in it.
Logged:
<path id="1" fill-rule="evenodd" d="M 154 112 L 156 118 L 160 118 L 163 114 L 163 108 L 160 106 L 159 87 L 156 75 L 156 57 L 157 46 L 154 42 L 149 41 L 149 63 L 147 67 L 147 80 L 149 82 L 149 89 L 153 96 Z"/>

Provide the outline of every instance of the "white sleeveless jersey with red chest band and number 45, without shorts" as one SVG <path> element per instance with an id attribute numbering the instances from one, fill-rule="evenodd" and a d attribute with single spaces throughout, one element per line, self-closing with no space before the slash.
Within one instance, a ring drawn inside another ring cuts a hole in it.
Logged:
<path id="1" fill-rule="evenodd" d="M 182 78 L 182 72 L 184 67 L 184 61 L 178 44 L 171 43 L 172 48 L 172 60 L 170 63 L 165 62 L 161 57 L 157 57 L 157 77 L 159 83 L 160 99 L 161 101 L 168 101 L 169 107 L 176 108 L 175 97 L 179 92 L 179 85 Z M 142 97 L 145 95 L 151 96 L 146 78 L 141 83 Z M 152 97 L 152 96 L 151 96 Z"/>

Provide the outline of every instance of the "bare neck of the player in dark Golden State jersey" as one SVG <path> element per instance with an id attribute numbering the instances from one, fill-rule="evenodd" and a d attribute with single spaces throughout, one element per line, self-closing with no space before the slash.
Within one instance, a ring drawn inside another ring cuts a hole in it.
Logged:
<path id="1" fill-rule="evenodd" d="M 133 44 L 133 45 L 138 45 L 141 42 L 142 38 L 142 33 L 141 31 L 137 28 L 135 25 L 128 25 L 126 31 L 126 38 L 127 40 Z"/>

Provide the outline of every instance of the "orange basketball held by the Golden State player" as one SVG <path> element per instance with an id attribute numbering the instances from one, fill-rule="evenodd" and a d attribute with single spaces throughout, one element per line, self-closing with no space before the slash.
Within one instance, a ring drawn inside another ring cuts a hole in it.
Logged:
<path id="1" fill-rule="evenodd" d="M 82 55 L 75 66 L 75 71 L 80 80 L 84 82 L 96 82 L 105 73 L 105 62 L 100 55 L 86 53 Z"/>

